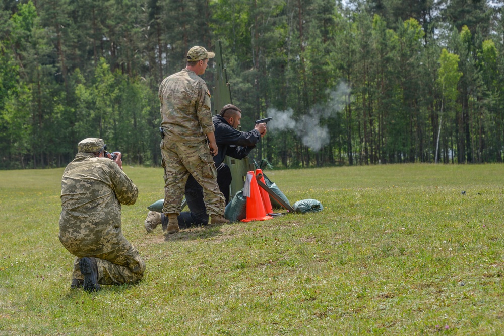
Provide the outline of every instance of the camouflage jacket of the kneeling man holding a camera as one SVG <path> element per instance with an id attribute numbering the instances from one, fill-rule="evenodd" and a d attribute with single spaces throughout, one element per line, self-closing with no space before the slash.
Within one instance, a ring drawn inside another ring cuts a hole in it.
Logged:
<path id="1" fill-rule="evenodd" d="M 122 234 L 121 204 L 133 205 L 137 197 L 137 186 L 115 162 L 77 153 L 61 179 L 61 243 L 107 252 L 100 250 L 107 239 Z"/>

